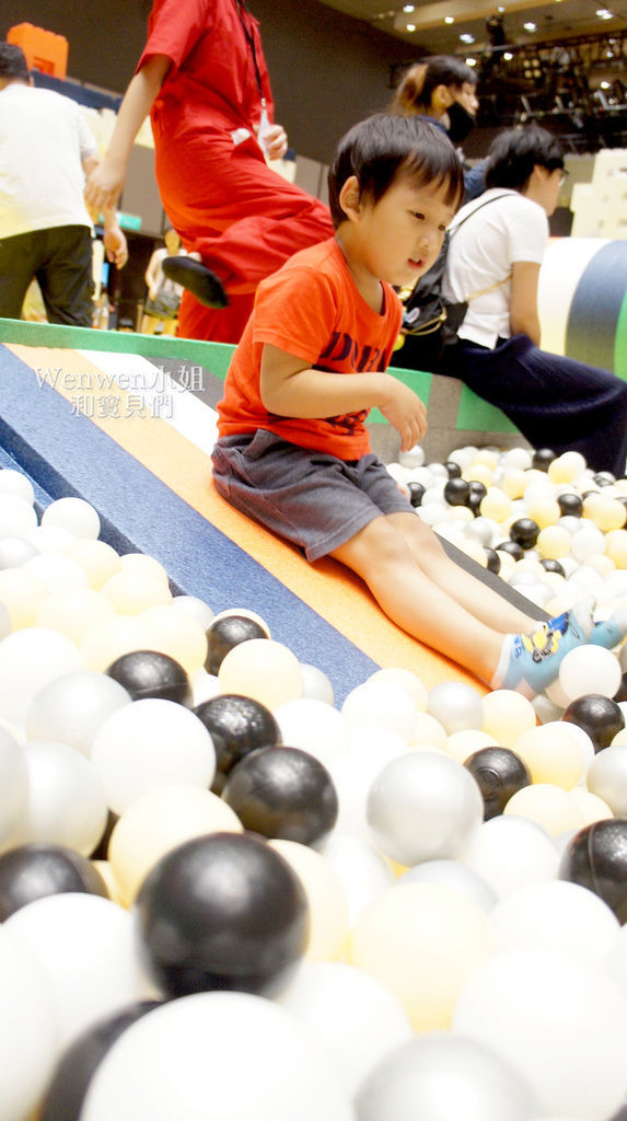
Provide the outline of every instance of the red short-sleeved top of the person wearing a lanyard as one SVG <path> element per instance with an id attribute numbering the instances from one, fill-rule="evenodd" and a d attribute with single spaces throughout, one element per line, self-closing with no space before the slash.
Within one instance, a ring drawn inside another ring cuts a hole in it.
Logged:
<path id="1" fill-rule="evenodd" d="M 169 118 L 178 133 L 207 123 L 253 131 L 261 114 L 255 58 L 272 120 L 259 24 L 236 0 L 155 0 L 137 70 L 152 55 L 172 62 L 152 108 L 161 127 Z"/>

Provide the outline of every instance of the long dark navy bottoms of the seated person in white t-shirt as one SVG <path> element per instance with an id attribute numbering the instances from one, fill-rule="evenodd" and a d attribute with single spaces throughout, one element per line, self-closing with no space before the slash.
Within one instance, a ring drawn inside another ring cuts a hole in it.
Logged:
<path id="1" fill-rule="evenodd" d="M 420 361 L 419 348 L 414 358 Z M 401 368 L 406 361 L 405 369 L 425 369 L 412 362 L 411 346 L 395 360 Z M 595 471 L 625 475 L 627 381 L 608 370 L 550 354 L 523 334 L 499 340 L 494 350 L 458 339 L 427 369 L 464 381 L 499 408 L 532 447 L 558 455 L 581 452 Z"/>

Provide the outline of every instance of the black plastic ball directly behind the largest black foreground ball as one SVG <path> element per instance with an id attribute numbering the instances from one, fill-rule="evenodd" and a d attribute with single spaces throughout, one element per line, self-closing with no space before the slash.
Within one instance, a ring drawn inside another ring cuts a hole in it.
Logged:
<path id="1" fill-rule="evenodd" d="M 264 837 L 316 845 L 337 821 L 327 768 L 300 748 L 253 751 L 233 768 L 222 797 L 245 828 Z"/>

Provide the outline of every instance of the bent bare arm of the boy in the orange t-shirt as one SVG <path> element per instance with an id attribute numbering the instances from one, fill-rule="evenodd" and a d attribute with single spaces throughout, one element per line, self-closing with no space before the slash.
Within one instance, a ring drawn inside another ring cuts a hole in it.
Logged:
<path id="1" fill-rule="evenodd" d="M 261 359 L 260 391 L 264 408 L 277 416 L 321 419 L 376 407 L 400 434 L 403 452 L 427 432 L 424 405 L 392 374 L 314 370 L 302 359 L 268 343 Z"/>

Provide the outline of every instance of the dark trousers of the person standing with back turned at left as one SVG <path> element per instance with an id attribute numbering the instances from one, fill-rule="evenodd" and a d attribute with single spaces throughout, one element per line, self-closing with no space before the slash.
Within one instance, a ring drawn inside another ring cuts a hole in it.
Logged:
<path id="1" fill-rule="evenodd" d="M 52 226 L 0 240 L 0 317 L 20 318 L 34 277 L 50 323 L 91 327 L 94 282 L 86 225 Z"/>

